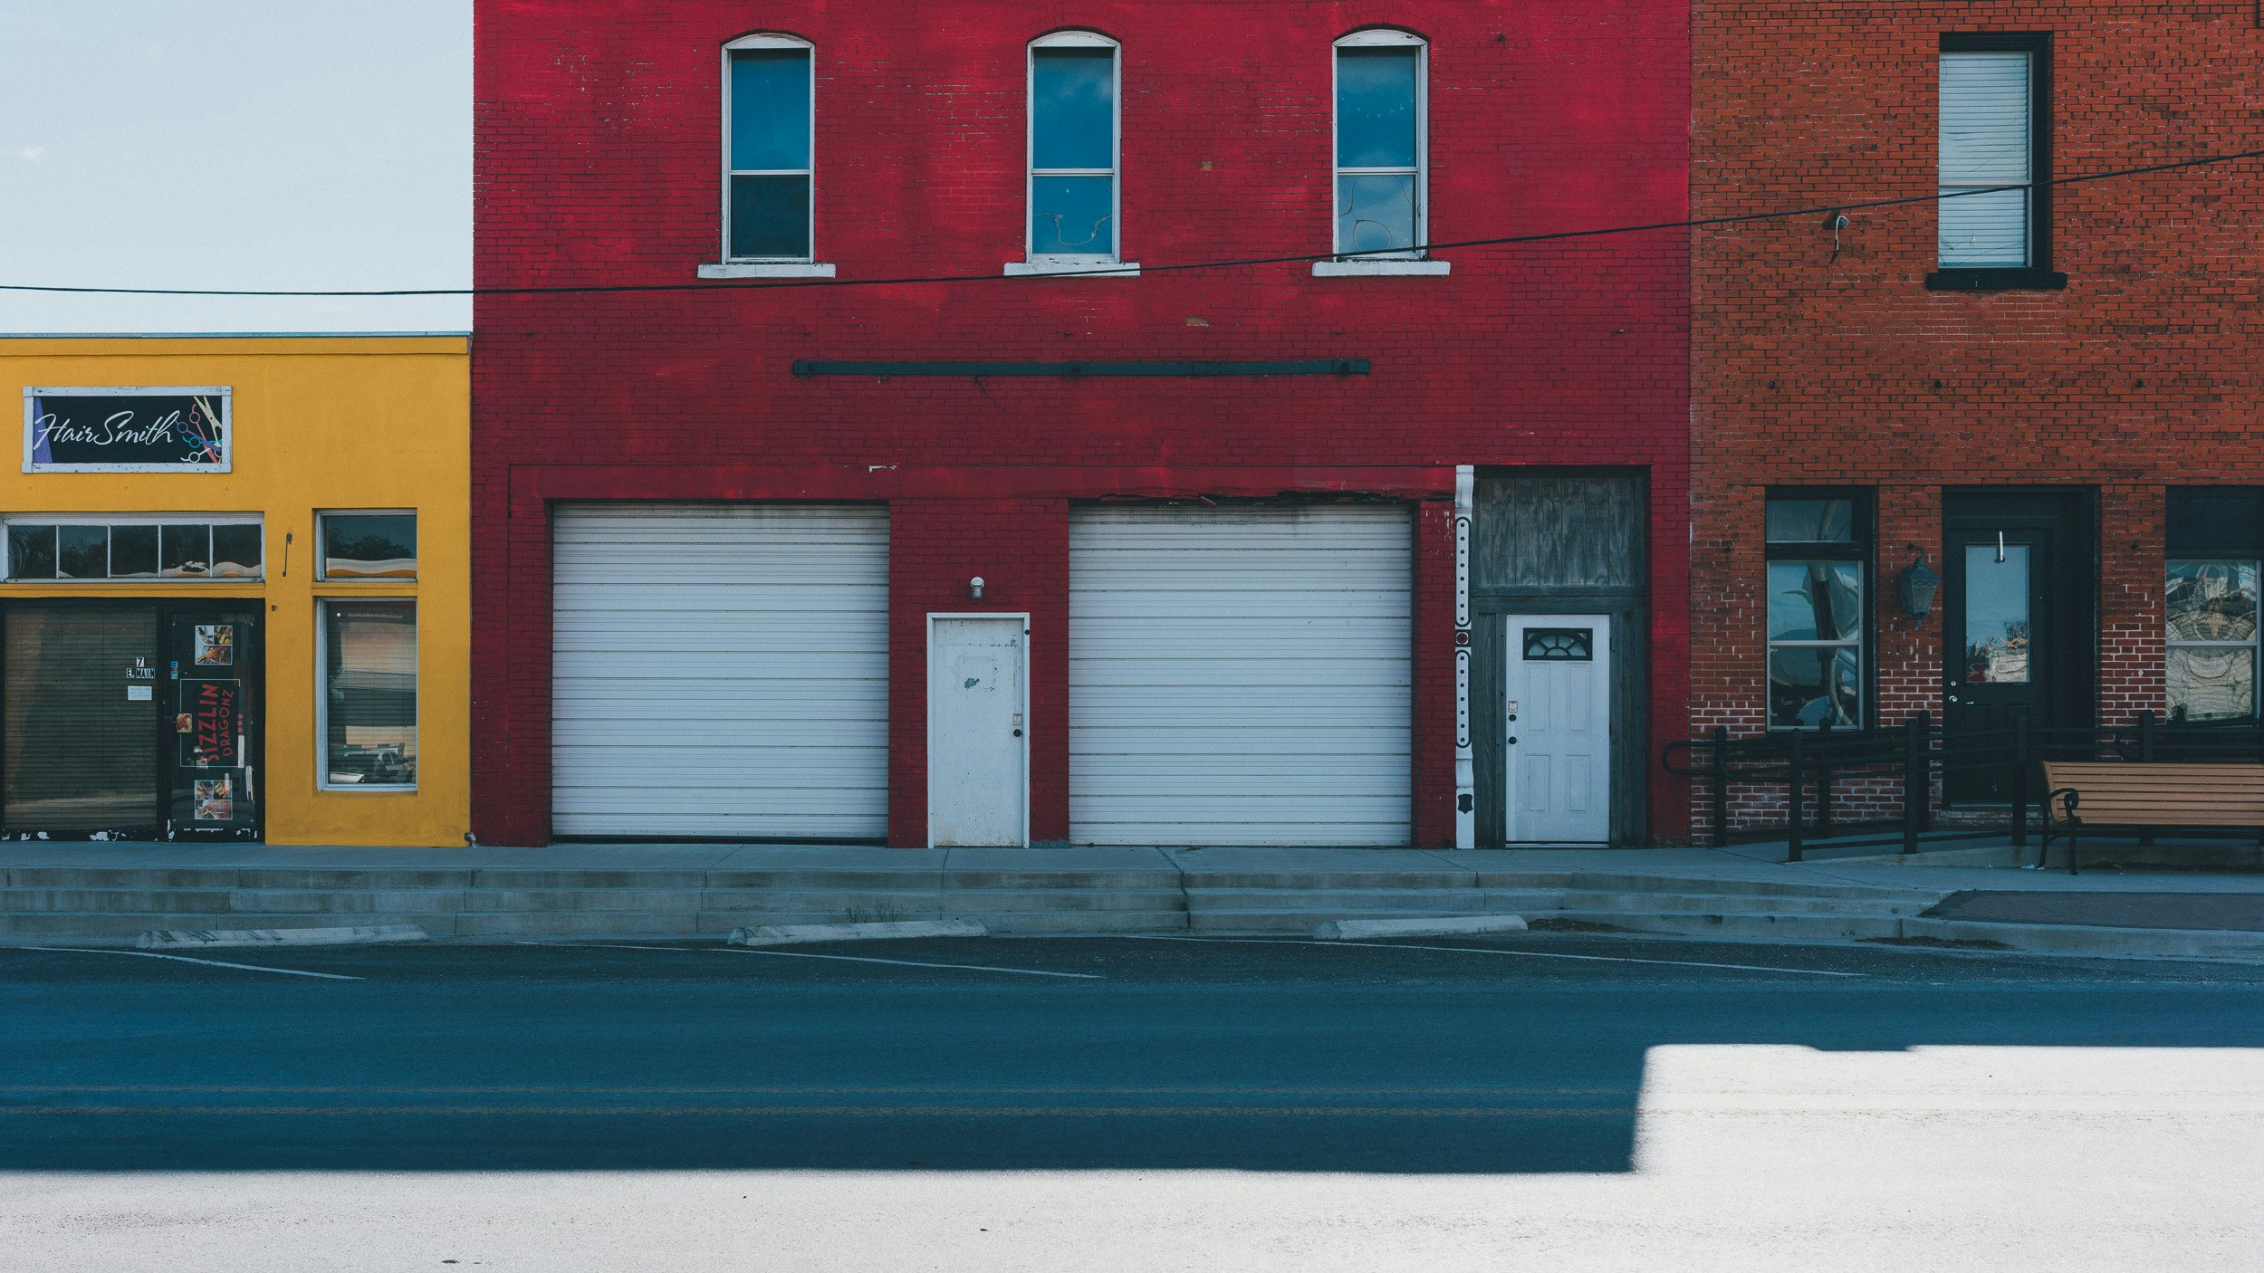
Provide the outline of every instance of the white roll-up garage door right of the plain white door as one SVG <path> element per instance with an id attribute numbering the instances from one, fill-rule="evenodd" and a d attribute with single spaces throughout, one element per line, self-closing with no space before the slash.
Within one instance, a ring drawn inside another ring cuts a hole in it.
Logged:
<path id="1" fill-rule="evenodd" d="M 1080 507 L 1069 519 L 1069 834 L 1404 845 L 1410 512 Z"/>

